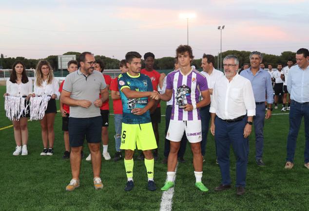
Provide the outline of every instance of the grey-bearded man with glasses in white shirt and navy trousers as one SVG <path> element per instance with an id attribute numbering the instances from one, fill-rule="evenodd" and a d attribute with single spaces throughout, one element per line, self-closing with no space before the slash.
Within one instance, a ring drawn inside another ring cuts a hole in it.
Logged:
<path id="1" fill-rule="evenodd" d="M 215 135 L 221 184 L 214 191 L 231 188 L 230 146 L 236 157 L 236 194 L 245 193 L 247 146 L 255 115 L 255 100 L 250 80 L 237 73 L 239 60 L 230 55 L 223 59 L 225 76 L 214 84 L 210 112 L 211 133 Z M 216 117 L 217 116 L 217 117 Z M 248 116 L 248 117 L 247 117 Z"/>

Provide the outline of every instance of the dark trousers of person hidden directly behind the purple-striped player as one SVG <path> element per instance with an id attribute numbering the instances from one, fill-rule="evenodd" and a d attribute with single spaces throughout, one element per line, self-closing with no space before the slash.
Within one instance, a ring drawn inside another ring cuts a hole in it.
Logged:
<path id="1" fill-rule="evenodd" d="M 166 106 L 166 110 L 165 110 L 165 136 L 167 134 L 167 131 L 169 129 L 169 125 L 170 125 L 170 120 L 171 120 L 171 114 L 172 114 L 172 108 L 173 106 Z M 187 136 L 184 133 L 181 141 L 180 141 L 180 148 L 178 151 L 178 157 L 183 157 L 183 155 L 186 152 L 186 146 L 187 146 Z M 165 138 L 164 141 L 164 156 L 168 157 L 170 153 L 170 140 Z"/>

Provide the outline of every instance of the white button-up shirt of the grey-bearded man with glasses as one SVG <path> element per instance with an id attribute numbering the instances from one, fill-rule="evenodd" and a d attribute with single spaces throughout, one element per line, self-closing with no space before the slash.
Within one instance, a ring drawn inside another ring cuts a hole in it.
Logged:
<path id="1" fill-rule="evenodd" d="M 209 112 L 221 119 L 235 119 L 255 115 L 255 101 L 250 80 L 238 73 L 231 81 L 223 76 L 217 79 L 212 93 Z"/>

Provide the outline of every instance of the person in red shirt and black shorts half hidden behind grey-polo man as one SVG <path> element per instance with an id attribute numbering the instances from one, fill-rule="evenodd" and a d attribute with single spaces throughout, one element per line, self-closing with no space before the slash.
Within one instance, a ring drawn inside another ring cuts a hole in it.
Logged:
<path id="1" fill-rule="evenodd" d="M 112 78 L 109 75 L 103 74 L 104 68 L 105 68 L 105 64 L 103 63 L 103 61 L 97 60 L 95 64 L 95 70 L 102 73 L 105 83 L 106 83 L 107 90 L 109 90 Z M 102 106 L 100 107 L 100 112 L 101 112 L 101 116 L 103 120 L 103 123 L 102 123 L 103 153 L 102 155 L 105 160 L 111 159 L 111 155 L 107 151 L 108 149 L 108 126 L 109 126 L 109 115 L 110 115 L 110 106 L 109 106 L 108 100 L 109 99 L 107 98 L 107 100 L 103 102 Z M 88 155 L 86 160 L 87 161 L 91 160 L 91 153 Z"/>

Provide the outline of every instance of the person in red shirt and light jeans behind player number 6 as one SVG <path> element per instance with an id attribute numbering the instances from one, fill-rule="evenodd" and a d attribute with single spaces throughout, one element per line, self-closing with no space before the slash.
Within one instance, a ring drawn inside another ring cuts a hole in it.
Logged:
<path id="1" fill-rule="evenodd" d="M 122 59 L 119 62 L 119 69 L 121 71 L 121 74 L 128 72 L 128 67 L 127 67 L 125 59 Z M 115 132 L 116 132 L 116 134 L 114 135 L 115 147 L 116 147 L 114 161 L 118 161 L 122 159 L 122 154 L 120 150 L 121 124 L 122 124 L 122 102 L 121 102 L 120 93 L 118 89 L 118 77 L 115 77 L 114 79 L 112 79 L 110 89 L 111 89 L 111 96 L 113 99 L 114 124 L 115 124 Z"/>

